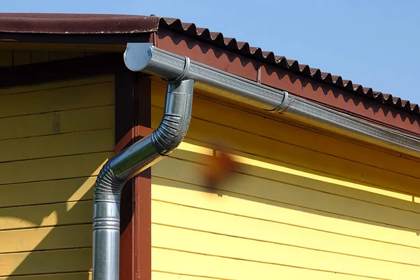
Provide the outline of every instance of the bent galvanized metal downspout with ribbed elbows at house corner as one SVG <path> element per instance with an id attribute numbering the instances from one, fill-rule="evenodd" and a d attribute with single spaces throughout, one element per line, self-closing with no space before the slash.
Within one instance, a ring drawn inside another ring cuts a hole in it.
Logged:
<path id="1" fill-rule="evenodd" d="M 93 279 L 118 280 L 120 196 L 125 182 L 165 158 L 181 144 L 191 119 L 194 80 L 183 80 L 189 69 L 167 85 L 165 111 L 157 130 L 111 158 L 94 186 Z"/>

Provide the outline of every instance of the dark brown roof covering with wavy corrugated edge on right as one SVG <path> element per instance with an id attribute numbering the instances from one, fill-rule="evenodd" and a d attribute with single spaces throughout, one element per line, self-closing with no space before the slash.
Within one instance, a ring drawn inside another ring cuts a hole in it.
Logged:
<path id="1" fill-rule="evenodd" d="M 246 42 L 223 36 L 220 32 L 211 32 L 207 28 L 196 27 L 194 23 L 181 22 L 175 18 L 160 18 L 142 15 L 92 15 L 92 14 L 43 14 L 43 13 L 1 13 L 0 36 L 6 33 L 36 34 L 135 34 L 158 31 L 160 28 L 171 29 L 187 36 L 193 36 L 220 48 L 237 52 L 280 69 L 286 69 L 299 75 L 319 80 L 334 87 L 386 104 L 395 109 L 420 116 L 419 105 L 413 104 L 392 94 L 374 91 L 345 80 L 341 76 L 326 73 L 297 60 L 287 59 L 265 52 L 258 47 L 251 47 Z"/>

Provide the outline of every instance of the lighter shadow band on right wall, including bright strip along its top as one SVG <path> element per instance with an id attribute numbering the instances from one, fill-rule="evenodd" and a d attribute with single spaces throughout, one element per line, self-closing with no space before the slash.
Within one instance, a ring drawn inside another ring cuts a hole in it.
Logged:
<path id="1" fill-rule="evenodd" d="M 221 198 L 225 195 L 237 197 L 306 212 L 313 217 L 326 216 L 332 218 L 330 223 L 346 220 L 354 225 L 365 223 L 419 235 L 420 204 L 414 202 L 412 195 L 321 172 L 309 172 L 237 151 L 230 151 L 232 160 L 236 162 L 235 170 L 225 181 L 209 188 L 203 176 L 208 173 L 208 168 L 202 162 L 211 162 L 209 158 L 213 153 L 210 146 L 184 142 L 171 158 L 153 167 L 153 184 L 216 193 Z M 159 200 L 159 197 L 155 199 Z M 302 225 L 305 223 L 300 222 Z"/>

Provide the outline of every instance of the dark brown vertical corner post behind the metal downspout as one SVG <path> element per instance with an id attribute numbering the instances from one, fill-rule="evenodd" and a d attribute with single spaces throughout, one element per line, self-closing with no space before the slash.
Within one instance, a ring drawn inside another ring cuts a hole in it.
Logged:
<path id="1" fill-rule="evenodd" d="M 151 133 L 151 80 L 116 74 L 116 153 Z M 120 206 L 120 280 L 151 279 L 151 169 L 125 184 Z"/>

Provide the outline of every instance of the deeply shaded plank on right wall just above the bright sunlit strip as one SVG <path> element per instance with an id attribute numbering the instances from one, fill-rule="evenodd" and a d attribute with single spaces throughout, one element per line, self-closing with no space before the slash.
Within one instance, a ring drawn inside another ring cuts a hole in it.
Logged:
<path id="1" fill-rule="evenodd" d="M 162 116 L 161 109 L 153 108 L 152 116 L 152 126 L 157 127 Z M 324 176 L 328 174 L 332 178 L 345 179 L 357 183 L 369 183 L 381 188 L 401 190 L 406 193 L 420 195 L 420 190 L 415 188 L 420 183 L 420 179 L 386 172 L 383 169 L 343 160 L 316 151 L 310 151 L 291 144 L 259 137 L 258 135 L 241 130 L 209 123 L 197 118 L 191 120 L 188 137 L 214 144 L 221 142 L 225 146 L 228 146 L 228 148 L 236 151 L 276 160 L 278 161 L 278 165 L 284 167 L 300 169 Z"/>

